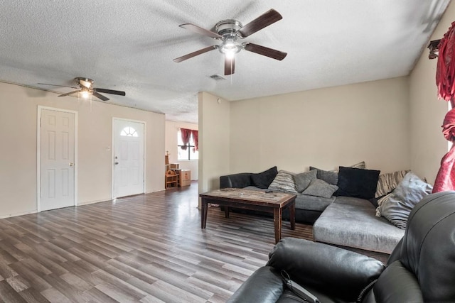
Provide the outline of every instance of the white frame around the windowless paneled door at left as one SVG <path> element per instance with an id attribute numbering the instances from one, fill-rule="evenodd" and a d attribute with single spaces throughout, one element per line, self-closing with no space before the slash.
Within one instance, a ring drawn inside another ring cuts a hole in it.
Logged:
<path id="1" fill-rule="evenodd" d="M 74 114 L 74 204 L 77 206 L 77 129 L 78 129 L 78 112 L 69 109 L 57 109 L 55 107 L 38 105 L 38 114 L 36 119 L 36 212 L 41 212 L 41 111 L 61 111 L 64 113 Z"/>

